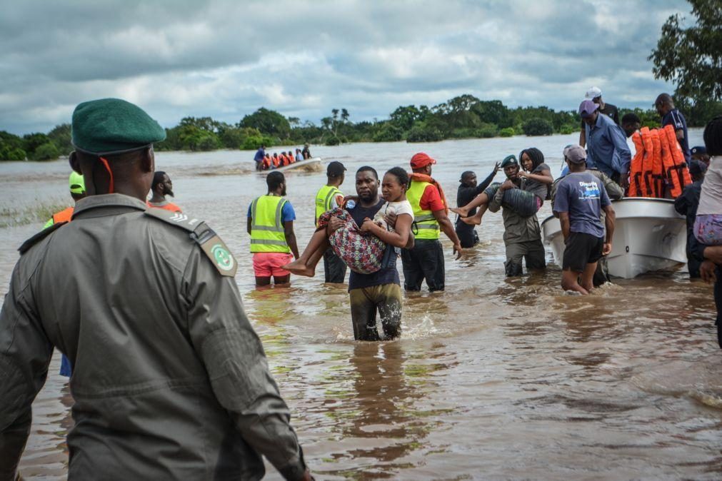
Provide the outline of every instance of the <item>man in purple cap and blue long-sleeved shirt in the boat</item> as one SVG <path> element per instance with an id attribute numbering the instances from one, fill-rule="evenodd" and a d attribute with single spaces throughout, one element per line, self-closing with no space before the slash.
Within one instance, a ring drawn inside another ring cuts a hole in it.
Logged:
<path id="1" fill-rule="evenodd" d="M 606 115 L 600 115 L 599 105 L 584 100 L 579 105 L 579 115 L 586 123 L 586 164 L 601 170 L 614 182 L 629 186 L 632 151 L 622 128 Z"/>

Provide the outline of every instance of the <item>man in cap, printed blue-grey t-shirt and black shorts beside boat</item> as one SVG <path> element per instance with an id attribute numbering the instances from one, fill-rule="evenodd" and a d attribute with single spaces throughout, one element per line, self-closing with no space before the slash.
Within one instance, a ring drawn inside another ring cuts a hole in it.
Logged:
<path id="1" fill-rule="evenodd" d="M 559 217 L 566 245 L 562 262 L 562 288 L 589 294 L 593 288 L 596 263 L 612 252 L 614 209 L 604 184 L 586 172 L 586 152 L 568 146 L 564 157 L 569 175 L 557 184 L 554 215 Z M 599 220 L 606 214 L 604 226 Z M 606 240 L 604 231 L 606 227 Z M 578 279 L 581 276 L 581 284 Z"/>

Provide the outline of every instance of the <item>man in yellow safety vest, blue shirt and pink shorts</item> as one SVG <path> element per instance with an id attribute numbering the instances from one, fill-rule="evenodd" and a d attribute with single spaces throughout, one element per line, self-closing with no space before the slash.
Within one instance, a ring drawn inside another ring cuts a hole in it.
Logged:
<path id="1" fill-rule="evenodd" d="M 251 234 L 253 272 L 256 287 L 271 285 L 288 287 L 291 273 L 281 268 L 298 258 L 293 221 L 296 213 L 286 196 L 286 177 L 282 172 L 271 172 L 266 177 L 269 193 L 261 195 L 248 206 L 248 234 Z M 291 255 L 293 253 L 293 256 Z"/>

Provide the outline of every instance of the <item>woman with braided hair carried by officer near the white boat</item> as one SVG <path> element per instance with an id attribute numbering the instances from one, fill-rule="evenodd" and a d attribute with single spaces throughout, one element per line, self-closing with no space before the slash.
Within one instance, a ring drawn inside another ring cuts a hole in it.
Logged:
<path id="1" fill-rule="evenodd" d="M 503 190 L 503 204 L 505 207 L 515 209 L 523 217 L 532 216 L 539 211 L 547 198 L 548 186 L 551 186 L 552 182 L 554 182 L 552 170 L 549 169 L 547 164 L 544 164 L 544 154 L 539 149 L 525 149 L 521 151 L 519 156 L 524 159 L 523 163 L 526 163 L 524 171 L 518 168 L 518 162 L 513 155 L 507 156 L 502 165 L 505 162 L 509 165 L 513 159 L 513 164 L 516 164 L 516 176 L 521 182 L 520 189 L 511 190 L 510 187 L 505 188 L 503 184 L 496 182 L 487 187 L 484 192 L 477 195 L 466 206 L 453 208 L 451 211 L 458 213 L 461 216 L 461 221 L 466 224 L 479 225 L 482 223 L 484 213 L 489 208 L 490 200 L 494 198 L 500 188 Z M 471 209 L 476 207 L 479 207 L 479 211 L 473 216 L 469 216 Z"/>

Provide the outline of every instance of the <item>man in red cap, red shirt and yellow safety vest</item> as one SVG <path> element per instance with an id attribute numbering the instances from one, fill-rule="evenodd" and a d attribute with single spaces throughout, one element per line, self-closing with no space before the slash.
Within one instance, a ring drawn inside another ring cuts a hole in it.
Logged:
<path id="1" fill-rule="evenodd" d="M 424 279 L 429 291 L 444 290 L 444 252 L 439 242 L 440 231 L 451 239 L 456 258 L 461 257 L 461 242 L 448 218 L 448 203 L 441 186 L 431 177 L 431 166 L 435 163 L 435 159 L 423 152 L 411 158 L 413 173 L 406 199 L 414 208 L 412 230 L 416 242 L 412 249 L 401 250 L 406 291 L 420 291 Z"/>

